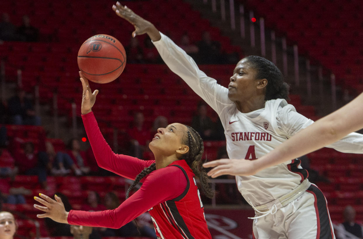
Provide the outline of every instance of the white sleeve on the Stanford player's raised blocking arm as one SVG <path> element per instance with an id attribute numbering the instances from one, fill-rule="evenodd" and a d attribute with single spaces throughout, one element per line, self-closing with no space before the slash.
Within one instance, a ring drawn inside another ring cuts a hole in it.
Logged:
<path id="1" fill-rule="evenodd" d="M 160 32 L 161 39 L 154 45 L 166 65 L 180 76 L 217 114 L 232 103 L 228 99 L 228 89 L 217 84 L 217 81 L 202 72 L 192 57 L 169 37 Z"/>

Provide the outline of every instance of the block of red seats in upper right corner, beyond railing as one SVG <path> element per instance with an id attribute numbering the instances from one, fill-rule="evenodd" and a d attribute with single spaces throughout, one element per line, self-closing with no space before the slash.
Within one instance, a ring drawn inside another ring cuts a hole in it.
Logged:
<path id="1" fill-rule="evenodd" d="M 279 35 L 297 44 L 299 53 L 320 63 L 337 83 L 353 94 L 363 91 L 363 48 L 360 0 L 240 0 Z"/>

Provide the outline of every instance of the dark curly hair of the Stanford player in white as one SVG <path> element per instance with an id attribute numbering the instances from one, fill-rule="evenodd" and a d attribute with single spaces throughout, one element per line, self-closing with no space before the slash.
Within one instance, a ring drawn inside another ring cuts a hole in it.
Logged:
<path id="1" fill-rule="evenodd" d="M 289 100 L 289 85 L 275 64 L 260 56 L 248 56 L 244 59 L 250 67 L 256 69 L 256 79 L 267 80 L 265 100 Z"/>

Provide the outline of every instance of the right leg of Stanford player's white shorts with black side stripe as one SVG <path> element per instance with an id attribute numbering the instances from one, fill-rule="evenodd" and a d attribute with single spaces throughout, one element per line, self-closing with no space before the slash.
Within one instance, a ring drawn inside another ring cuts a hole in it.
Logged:
<path id="1" fill-rule="evenodd" d="M 326 199 L 315 185 L 285 208 L 290 210 L 290 214 L 285 215 L 289 239 L 335 239 Z"/>

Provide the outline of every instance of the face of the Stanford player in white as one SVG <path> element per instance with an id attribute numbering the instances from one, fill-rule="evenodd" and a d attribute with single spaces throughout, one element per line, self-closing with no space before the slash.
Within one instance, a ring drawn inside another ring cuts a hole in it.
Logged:
<path id="1" fill-rule="evenodd" d="M 230 78 L 228 98 L 233 102 L 246 102 L 253 97 L 258 84 L 256 75 L 256 69 L 252 68 L 245 58 L 240 60 Z"/>

